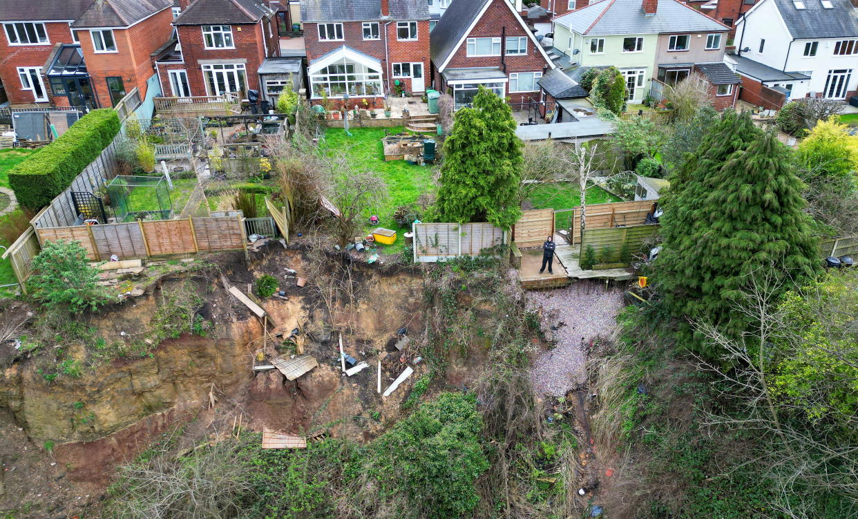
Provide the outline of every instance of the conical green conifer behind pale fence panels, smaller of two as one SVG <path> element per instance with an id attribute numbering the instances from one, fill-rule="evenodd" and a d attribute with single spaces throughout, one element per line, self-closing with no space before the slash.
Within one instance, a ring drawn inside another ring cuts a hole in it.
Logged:
<path id="1" fill-rule="evenodd" d="M 444 221 L 488 221 L 507 228 L 521 216 L 523 143 L 504 100 L 480 87 L 473 108 L 456 112 L 444 142 L 438 213 Z"/>

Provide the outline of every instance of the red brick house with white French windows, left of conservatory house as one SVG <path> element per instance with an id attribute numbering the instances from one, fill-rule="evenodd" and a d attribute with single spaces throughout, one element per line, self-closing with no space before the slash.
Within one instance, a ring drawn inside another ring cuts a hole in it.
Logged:
<path id="1" fill-rule="evenodd" d="M 275 12 L 262 0 L 180 0 L 180 8 L 177 38 L 154 52 L 164 94 L 244 98 L 260 90 L 260 67 L 280 56 Z"/>

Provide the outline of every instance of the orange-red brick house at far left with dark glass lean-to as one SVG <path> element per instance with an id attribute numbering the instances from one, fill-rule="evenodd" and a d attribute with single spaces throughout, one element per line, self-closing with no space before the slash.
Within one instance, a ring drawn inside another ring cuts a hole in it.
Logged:
<path id="1" fill-rule="evenodd" d="M 146 94 L 172 0 L 0 0 L 0 78 L 12 105 L 113 106 Z M 133 42 L 133 48 L 132 48 Z"/>

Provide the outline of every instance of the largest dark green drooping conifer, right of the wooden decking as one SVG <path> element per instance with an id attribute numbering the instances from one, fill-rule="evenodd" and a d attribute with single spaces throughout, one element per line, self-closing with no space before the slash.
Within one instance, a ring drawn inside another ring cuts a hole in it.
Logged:
<path id="1" fill-rule="evenodd" d="M 817 269 L 791 152 L 773 132 L 759 135 L 749 123 L 726 114 L 674 175 L 677 185 L 663 207 L 656 279 L 686 345 L 712 358 L 719 352 L 692 335 L 689 320 L 709 320 L 737 337 L 751 324 L 734 306 L 744 288 Z"/>

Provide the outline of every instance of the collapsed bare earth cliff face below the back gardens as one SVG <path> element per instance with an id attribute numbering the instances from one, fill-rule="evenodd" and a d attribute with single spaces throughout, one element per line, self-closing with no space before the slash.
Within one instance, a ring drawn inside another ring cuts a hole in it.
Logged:
<path id="1" fill-rule="evenodd" d="M 283 279 L 283 263 L 299 269 L 300 254 L 279 250 L 251 271 L 239 269 L 227 276 L 242 287 L 262 274 Z M 157 311 L 160 291 L 192 277 L 161 280 L 142 297 L 95 318 L 93 325 L 105 337 L 140 333 Z M 364 268 L 358 297 L 331 309 L 318 304 L 309 287 L 290 286 L 287 300 L 265 301 L 275 322 L 297 321 L 311 335 L 307 353 L 319 366 L 295 381 L 287 381 L 276 370 L 253 371 L 263 341 L 262 323 L 222 287 L 199 276 L 194 282 L 206 303 L 201 313 L 215 323 L 206 337 L 182 335 L 153 347 L 146 357 L 113 359 L 83 369 L 80 377 L 61 376 L 53 382 L 45 380 L 35 359 L 15 362 L 2 372 L 0 407 L 9 410 L 33 444 L 54 445 L 54 456 L 68 469 L 69 479 L 103 483 L 115 464 L 144 449 L 155 435 L 204 413 L 214 420 L 227 408 L 231 413 L 239 409 L 245 425 L 257 430 L 268 426 L 307 433 L 339 421 L 331 434 L 367 438 L 382 429 L 381 422 L 355 423 L 349 418 L 373 410 L 382 414 L 382 421 L 395 419 L 410 384 L 426 370 L 417 365 L 415 376 L 383 401 L 376 390 L 376 369 L 342 376 L 339 336 L 331 333 L 334 328 L 346 330 L 347 353 L 371 360 L 372 368 L 377 353 L 387 357 L 382 370 L 386 387 L 404 369 L 392 348 L 396 330 L 403 326 L 420 330 L 418 273 L 379 274 Z M 217 399 L 214 410 L 208 409 L 209 393 Z"/>

